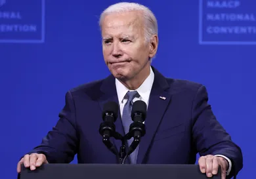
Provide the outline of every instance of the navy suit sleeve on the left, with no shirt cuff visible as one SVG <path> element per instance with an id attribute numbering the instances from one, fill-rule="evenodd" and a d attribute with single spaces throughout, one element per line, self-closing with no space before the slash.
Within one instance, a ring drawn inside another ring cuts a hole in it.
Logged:
<path id="1" fill-rule="evenodd" d="M 75 124 L 75 105 L 72 94 L 66 93 L 66 104 L 59 113 L 60 119 L 43 138 L 41 144 L 30 153 L 43 153 L 49 163 L 70 163 L 77 153 L 77 130 Z"/>

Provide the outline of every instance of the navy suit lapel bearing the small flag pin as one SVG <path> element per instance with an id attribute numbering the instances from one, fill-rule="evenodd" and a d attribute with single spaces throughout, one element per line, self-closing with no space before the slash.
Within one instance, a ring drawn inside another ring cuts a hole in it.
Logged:
<path id="1" fill-rule="evenodd" d="M 154 138 L 158 125 L 171 101 L 171 94 L 165 91 L 166 89 L 169 89 L 165 77 L 154 68 L 152 69 L 155 74 L 154 84 L 150 92 L 150 100 L 145 120 L 146 134 L 141 138 L 137 163 L 145 163 L 144 159 L 150 149 L 152 139 Z"/>

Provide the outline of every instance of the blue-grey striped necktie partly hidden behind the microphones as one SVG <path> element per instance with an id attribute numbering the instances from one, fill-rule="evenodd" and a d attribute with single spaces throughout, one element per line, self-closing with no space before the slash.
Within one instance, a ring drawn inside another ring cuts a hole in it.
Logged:
<path id="1" fill-rule="evenodd" d="M 123 108 L 123 116 L 122 116 L 122 123 L 123 123 L 123 129 L 125 130 L 125 134 L 129 132 L 129 128 L 131 123 L 133 123 L 133 120 L 131 119 L 131 109 L 133 107 L 133 99 L 135 97 L 139 98 L 139 93 L 136 90 L 128 91 L 125 95 L 125 98 L 127 99 L 127 102 Z M 128 145 L 130 146 L 133 142 L 133 138 L 127 141 Z M 139 146 L 131 153 L 130 159 L 131 163 L 135 164 L 137 163 L 137 153 L 138 153 Z"/>

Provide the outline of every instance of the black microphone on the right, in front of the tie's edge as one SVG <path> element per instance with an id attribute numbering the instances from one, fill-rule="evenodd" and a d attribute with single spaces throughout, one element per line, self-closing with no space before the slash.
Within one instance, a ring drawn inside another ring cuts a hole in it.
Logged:
<path id="1" fill-rule="evenodd" d="M 143 122 L 146 119 L 146 103 L 142 100 L 137 100 L 133 103 L 131 110 L 131 119 L 133 123 L 130 125 L 128 139 L 133 137 L 133 142 L 129 146 L 127 155 L 130 155 L 139 146 L 140 138 L 146 134 L 145 125 Z"/>

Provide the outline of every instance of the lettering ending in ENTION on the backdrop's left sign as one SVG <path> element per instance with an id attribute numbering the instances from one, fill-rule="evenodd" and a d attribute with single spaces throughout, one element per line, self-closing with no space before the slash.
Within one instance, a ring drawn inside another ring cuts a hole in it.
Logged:
<path id="1" fill-rule="evenodd" d="M 0 24 L 0 32 L 35 32 L 37 31 L 37 26 L 28 24 Z"/>

